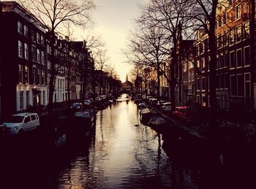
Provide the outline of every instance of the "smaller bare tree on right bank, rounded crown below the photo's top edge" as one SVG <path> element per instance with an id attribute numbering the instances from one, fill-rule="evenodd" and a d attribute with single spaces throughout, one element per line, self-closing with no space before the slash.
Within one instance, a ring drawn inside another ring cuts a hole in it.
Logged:
<path id="1" fill-rule="evenodd" d="M 129 37 L 129 50 L 125 50 L 124 54 L 129 62 L 152 66 L 157 71 L 157 99 L 159 99 L 161 63 L 167 61 L 169 55 L 166 50 L 167 46 L 170 48 L 170 44 L 161 28 L 148 28 L 140 22 L 138 28 L 137 33 Z"/>

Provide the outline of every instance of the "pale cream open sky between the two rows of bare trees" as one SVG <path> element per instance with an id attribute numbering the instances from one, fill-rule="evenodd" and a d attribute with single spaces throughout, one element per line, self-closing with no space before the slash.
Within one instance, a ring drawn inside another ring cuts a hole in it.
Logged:
<path id="1" fill-rule="evenodd" d="M 105 42 L 108 63 L 115 66 L 122 82 L 132 69 L 132 65 L 125 63 L 126 58 L 121 50 L 127 47 L 128 34 L 134 26 L 134 19 L 140 15 L 140 4 L 149 0 L 94 0 L 97 9 L 92 13 L 94 28 L 88 32 L 95 36 L 101 36 Z"/>

